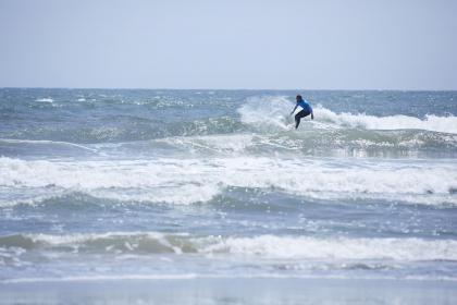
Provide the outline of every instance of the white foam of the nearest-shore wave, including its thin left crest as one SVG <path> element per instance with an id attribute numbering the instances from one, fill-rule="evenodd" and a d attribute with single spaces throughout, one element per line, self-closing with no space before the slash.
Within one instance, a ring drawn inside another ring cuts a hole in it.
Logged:
<path id="1" fill-rule="evenodd" d="M 257 235 L 238 236 L 190 236 L 188 233 L 164 234 L 160 232 L 109 232 L 109 233 L 76 233 L 67 235 L 26 234 L 34 242 L 51 246 L 77 246 L 98 240 L 124 239 L 125 243 L 138 246 L 144 240 L 153 240 L 173 248 L 175 254 L 182 249 L 172 245 L 168 237 L 185 239 L 200 254 L 259 256 L 279 259 L 392 259 L 402 261 L 419 260 L 457 260 L 456 240 L 423 240 L 405 239 L 367 239 L 367 237 L 313 237 L 313 236 L 279 236 Z M 181 244 L 181 243 L 180 243 Z M 184 243 L 187 244 L 187 243 Z M 127 246 L 128 248 L 128 246 Z M 131 249 L 131 248 L 129 248 Z M 132 248 L 134 249 L 134 248 Z M 132 251 L 131 249 L 131 251 Z"/>

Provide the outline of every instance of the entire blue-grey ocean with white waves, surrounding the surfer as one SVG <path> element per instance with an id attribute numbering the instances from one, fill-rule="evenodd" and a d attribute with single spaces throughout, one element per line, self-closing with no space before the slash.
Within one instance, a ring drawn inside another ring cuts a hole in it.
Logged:
<path id="1" fill-rule="evenodd" d="M 457 91 L 1 88 L 0 304 L 152 301 L 455 304 Z"/>

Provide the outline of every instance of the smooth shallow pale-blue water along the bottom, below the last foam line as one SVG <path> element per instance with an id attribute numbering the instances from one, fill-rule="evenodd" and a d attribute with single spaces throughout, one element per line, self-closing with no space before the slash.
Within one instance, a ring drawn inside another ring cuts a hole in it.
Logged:
<path id="1" fill-rule="evenodd" d="M 0 304 L 454 304 L 457 283 L 189 278 L 0 284 Z"/>

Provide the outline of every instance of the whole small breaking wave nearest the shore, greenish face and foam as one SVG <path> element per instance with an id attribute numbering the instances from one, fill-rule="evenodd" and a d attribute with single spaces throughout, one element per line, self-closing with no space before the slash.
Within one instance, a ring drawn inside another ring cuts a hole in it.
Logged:
<path id="1" fill-rule="evenodd" d="M 0 236 L 0 248 L 61 253 L 212 254 L 280 259 L 457 260 L 457 241 L 258 235 L 196 236 L 188 233 L 111 232 L 14 234 Z"/>

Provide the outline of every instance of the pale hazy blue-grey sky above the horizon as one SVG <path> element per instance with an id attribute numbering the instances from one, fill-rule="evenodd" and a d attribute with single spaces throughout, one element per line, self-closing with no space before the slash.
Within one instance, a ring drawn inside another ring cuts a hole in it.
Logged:
<path id="1" fill-rule="evenodd" d="M 457 1 L 0 0 L 0 87 L 457 89 Z"/>

